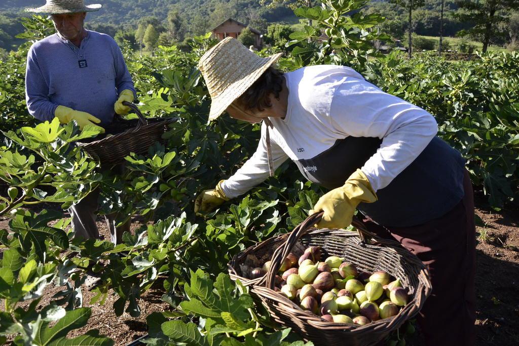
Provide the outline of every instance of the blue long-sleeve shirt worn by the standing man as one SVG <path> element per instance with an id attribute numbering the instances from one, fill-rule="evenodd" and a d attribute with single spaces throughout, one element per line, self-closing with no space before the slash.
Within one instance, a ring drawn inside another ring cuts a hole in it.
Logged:
<path id="1" fill-rule="evenodd" d="M 51 121 L 58 105 L 98 117 L 101 126 L 112 122 L 114 103 L 133 82 L 114 39 L 95 31 L 78 48 L 58 34 L 50 35 L 29 50 L 25 97 L 29 113 Z"/>

